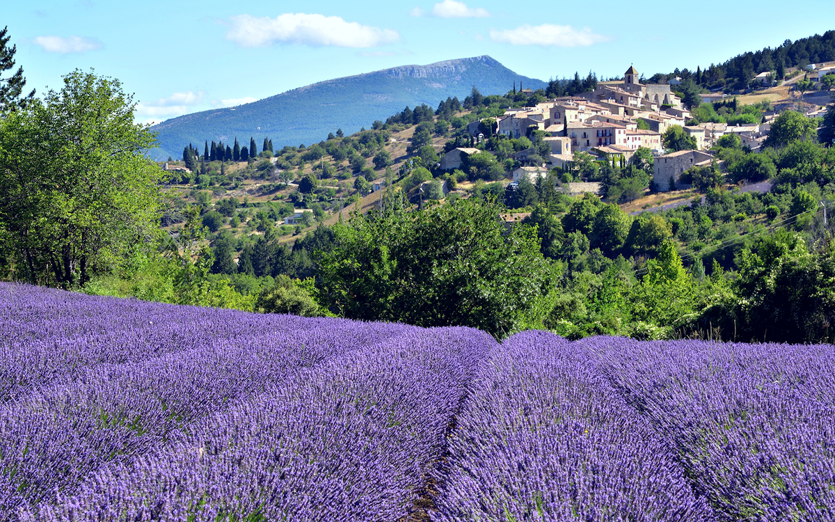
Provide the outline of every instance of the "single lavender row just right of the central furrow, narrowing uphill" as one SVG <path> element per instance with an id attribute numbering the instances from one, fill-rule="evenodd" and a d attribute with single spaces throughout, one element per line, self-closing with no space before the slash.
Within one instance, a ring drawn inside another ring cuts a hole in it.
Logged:
<path id="1" fill-rule="evenodd" d="M 663 438 L 544 332 L 510 337 L 473 383 L 433 520 L 712 520 Z"/>

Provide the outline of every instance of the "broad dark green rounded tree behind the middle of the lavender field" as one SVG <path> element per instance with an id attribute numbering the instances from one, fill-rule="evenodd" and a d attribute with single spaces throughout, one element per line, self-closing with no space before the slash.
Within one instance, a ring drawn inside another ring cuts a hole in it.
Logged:
<path id="1" fill-rule="evenodd" d="M 355 215 L 334 226 L 316 286 L 334 312 L 423 327 L 477 327 L 504 337 L 545 312 L 554 288 L 533 228 L 506 231 L 481 200 Z M 541 322 L 541 317 L 539 317 Z"/>

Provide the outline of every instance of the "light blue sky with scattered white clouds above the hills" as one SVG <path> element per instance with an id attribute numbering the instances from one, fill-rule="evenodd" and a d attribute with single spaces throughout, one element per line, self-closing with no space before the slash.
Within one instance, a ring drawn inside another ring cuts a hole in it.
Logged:
<path id="1" fill-rule="evenodd" d="M 78 0 L 3 6 L 27 86 L 94 68 L 139 121 L 261 99 L 317 81 L 489 54 L 547 80 L 696 68 L 835 29 L 831 0 L 787 3 Z M 615 9 L 607 11 L 607 9 Z"/>

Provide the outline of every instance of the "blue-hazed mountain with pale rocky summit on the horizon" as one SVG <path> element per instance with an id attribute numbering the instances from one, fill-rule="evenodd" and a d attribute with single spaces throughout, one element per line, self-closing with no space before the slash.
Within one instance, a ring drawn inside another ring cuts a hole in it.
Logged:
<path id="1" fill-rule="evenodd" d="M 276 146 L 310 144 L 337 129 L 347 134 L 356 132 L 406 106 L 434 107 L 448 97 L 463 99 L 473 85 L 482 94 L 504 94 L 514 83 L 532 89 L 546 85 L 542 80 L 514 73 L 488 55 L 327 79 L 249 104 L 184 114 L 155 124 L 151 129 L 159 133 L 159 148 L 151 155 L 176 158 L 189 143 L 226 142 L 235 137 L 245 141 L 252 136 L 258 143 L 269 137 Z M 333 110 L 339 106 L 341 110 Z"/>

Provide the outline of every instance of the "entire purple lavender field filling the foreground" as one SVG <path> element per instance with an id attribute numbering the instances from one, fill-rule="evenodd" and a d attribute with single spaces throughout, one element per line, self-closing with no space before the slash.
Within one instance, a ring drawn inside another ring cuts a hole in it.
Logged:
<path id="1" fill-rule="evenodd" d="M 0 283 L 0 520 L 832 520 L 833 378 Z"/>

